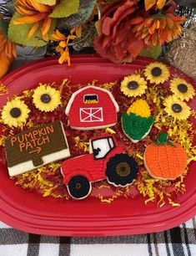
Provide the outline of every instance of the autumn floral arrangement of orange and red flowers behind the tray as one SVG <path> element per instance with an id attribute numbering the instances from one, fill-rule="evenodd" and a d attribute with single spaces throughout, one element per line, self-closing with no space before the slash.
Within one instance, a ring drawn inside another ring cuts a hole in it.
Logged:
<path id="1" fill-rule="evenodd" d="M 53 44 L 59 64 L 68 65 L 70 51 L 81 45 L 116 63 L 139 54 L 157 58 L 185 21 L 171 0 L 13 0 L 10 6 L 11 15 L 0 19 L 0 77 L 16 58 L 16 45 Z"/>

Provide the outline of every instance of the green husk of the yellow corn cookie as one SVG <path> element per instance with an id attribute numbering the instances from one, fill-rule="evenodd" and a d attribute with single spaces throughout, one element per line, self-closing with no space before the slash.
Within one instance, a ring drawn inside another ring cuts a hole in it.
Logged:
<path id="1" fill-rule="evenodd" d="M 123 131 L 129 138 L 134 141 L 140 141 L 153 125 L 153 117 L 148 118 L 131 113 L 130 115 L 123 113 L 122 115 Z"/>

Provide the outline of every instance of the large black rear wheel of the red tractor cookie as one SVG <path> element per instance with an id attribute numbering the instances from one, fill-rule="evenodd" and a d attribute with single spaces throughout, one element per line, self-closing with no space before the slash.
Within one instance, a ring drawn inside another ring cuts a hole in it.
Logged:
<path id="1" fill-rule="evenodd" d="M 127 154 L 111 157 L 107 163 L 106 177 L 114 186 L 131 184 L 138 174 L 138 163 Z"/>

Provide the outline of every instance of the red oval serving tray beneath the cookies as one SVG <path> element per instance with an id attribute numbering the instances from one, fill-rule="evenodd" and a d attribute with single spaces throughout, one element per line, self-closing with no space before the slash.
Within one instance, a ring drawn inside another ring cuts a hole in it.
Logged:
<path id="1" fill-rule="evenodd" d="M 132 64 L 112 64 L 97 56 L 76 56 L 72 59 L 71 67 L 68 67 L 58 64 L 57 59 L 43 59 L 17 69 L 3 79 L 10 94 L 0 97 L 0 109 L 8 97 L 20 94 L 38 82 L 60 83 L 62 79 L 68 78 L 72 84 L 88 84 L 93 79 L 103 83 L 123 78 L 135 69 L 142 69 L 150 61 L 141 58 Z M 195 106 L 195 100 L 192 105 Z M 41 197 L 15 186 L 8 177 L 8 170 L 0 166 L 0 220 L 28 233 L 60 236 L 158 232 L 178 226 L 195 215 L 195 169 L 196 162 L 193 162 L 186 178 L 187 192 L 180 198 L 181 206 L 158 208 L 152 202 L 145 205 L 142 196 L 118 198 L 111 204 L 92 197 L 68 202 Z"/>

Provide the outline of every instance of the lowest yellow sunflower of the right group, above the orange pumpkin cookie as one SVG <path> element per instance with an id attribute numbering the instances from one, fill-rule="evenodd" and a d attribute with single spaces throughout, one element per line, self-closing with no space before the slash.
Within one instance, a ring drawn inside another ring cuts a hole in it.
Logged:
<path id="1" fill-rule="evenodd" d="M 165 105 L 165 112 L 167 112 L 168 115 L 172 115 L 177 120 L 186 120 L 191 114 L 188 105 L 174 95 L 168 96 L 163 104 Z"/>

